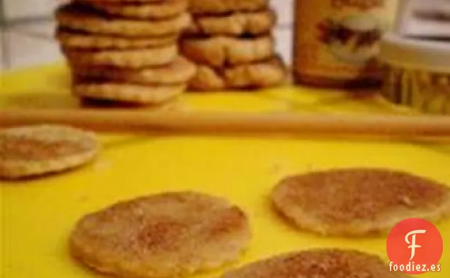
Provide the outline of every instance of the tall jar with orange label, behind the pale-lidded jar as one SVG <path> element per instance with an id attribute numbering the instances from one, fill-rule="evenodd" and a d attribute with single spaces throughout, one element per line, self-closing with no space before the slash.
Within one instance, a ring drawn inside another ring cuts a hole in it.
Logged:
<path id="1" fill-rule="evenodd" d="M 294 80 L 320 87 L 379 84 L 379 42 L 397 0 L 296 0 Z"/>

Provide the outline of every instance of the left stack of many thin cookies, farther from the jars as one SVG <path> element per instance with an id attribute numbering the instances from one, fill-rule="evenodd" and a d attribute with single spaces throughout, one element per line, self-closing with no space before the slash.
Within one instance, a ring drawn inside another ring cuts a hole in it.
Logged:
<path id="1" fill-rule="evenodd" d="M 57 38 L 80 98 L 160 105 L 185 91 L 195 65 L 178 53 L 188 0 L 73 0 Z"/>

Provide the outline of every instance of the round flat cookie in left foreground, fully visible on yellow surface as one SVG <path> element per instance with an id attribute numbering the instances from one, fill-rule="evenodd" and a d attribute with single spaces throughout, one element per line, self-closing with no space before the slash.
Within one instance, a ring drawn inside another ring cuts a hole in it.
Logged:
<path id="1" fill-rule="evenodd" d="M 71 234 L 72 255 L 118 277 L 182 277 L 238 260 L 250 243 L 246 214 L 224 199 L 169 192 L 89 214 Z"/>

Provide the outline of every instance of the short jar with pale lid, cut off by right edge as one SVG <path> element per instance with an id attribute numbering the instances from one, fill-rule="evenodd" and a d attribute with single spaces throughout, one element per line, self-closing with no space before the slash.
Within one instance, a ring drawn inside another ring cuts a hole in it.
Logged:
<path id="1" fill-rule="evenodd" d="M 450 115 L 450 42 L 385 35 L 382 95 L 419 112 Z"/>

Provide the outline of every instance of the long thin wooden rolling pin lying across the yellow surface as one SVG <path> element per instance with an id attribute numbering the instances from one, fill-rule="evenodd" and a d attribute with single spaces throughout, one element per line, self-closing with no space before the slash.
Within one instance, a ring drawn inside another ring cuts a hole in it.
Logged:
<path id="1" fill-rule="evenodd" d="M 144 110 L 2 110 L 0 127 L 67 124 L 103 132 L 282 132 L 450 137 L 447 116 L 299 115 Z"/>

